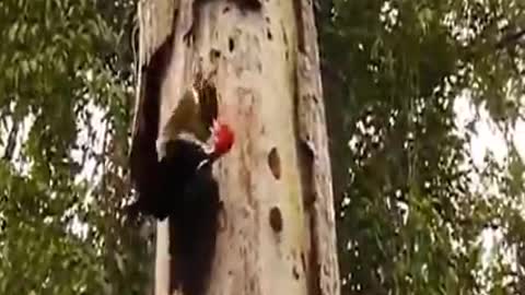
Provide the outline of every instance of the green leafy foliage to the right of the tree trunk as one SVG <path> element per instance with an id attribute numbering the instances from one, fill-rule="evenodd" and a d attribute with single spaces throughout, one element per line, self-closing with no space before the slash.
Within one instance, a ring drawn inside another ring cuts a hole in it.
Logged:
<path id="1" fill-rule="evenodd" d="M 479 235 L 493 227 L 506 233 L 506 249 L 523 244 L 522 160 L 488 158 L 481 181 L 499 191 L 475 189 L 476 130 L 456 127 L 454 106 L 468 95 L 506 134 L 523 116 L 525 54 L 512 36 L 525 30 L 524 3 L 335 0 L 319 9 L 327 104 L 346 109 L 331 122 L 342 126 L 337 162 L 349 174 L 336 196 L 343 294 L 520 293 L 523 270 L 503 271 L 500 259 L 489 273 Z"/>

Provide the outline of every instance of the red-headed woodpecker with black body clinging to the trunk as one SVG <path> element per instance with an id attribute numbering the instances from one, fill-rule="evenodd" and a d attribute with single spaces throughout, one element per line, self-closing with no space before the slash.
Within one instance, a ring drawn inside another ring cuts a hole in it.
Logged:
<path id="1" fill-rule="evenodd" d="M 128 208 L 131 214 L 162 221 L 188 210 L 188 186 L 200 186 L 194 179 L 211 173 L 212 164 L 231 150 L 234 133 L 217 118 L 214 88 L 208 84 L 202 88 L 200 96 L 195 87 L 187 91 L 170 116 L 164 131 L 170 139 L 162 144 L 163 155 L 142 172 L 149 174 L 148 181 L 137 179 L 138 200 Z"/>

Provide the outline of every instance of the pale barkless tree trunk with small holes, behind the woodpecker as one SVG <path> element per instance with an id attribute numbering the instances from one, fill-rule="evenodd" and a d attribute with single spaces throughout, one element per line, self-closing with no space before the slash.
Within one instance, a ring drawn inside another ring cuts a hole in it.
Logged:
<path id="1" fill-rule="evenodd" d="M 257 3 L 141 1 L 133 130 L 155 99 L 144 81 L 160 81 L 162 144 L 183 92 L 196 76 L 209 79 L 235 144 L 214 167 L 222 210 L 206 294 L 339 294 L 312 1 Z M 133 131 L 132 146 L 151 138 Z M 156 295 L 173 286 L 166 224 L 158 226 Z"/>

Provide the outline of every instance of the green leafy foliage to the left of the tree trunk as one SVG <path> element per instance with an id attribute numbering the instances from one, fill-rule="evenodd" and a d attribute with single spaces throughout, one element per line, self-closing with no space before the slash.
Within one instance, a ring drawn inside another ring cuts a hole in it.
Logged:
<path id="1" fill-rule="evenodd" d="M 0 3 L 1 294 L 144 288 L 147 243 L 118 210 L 133 14 L 133 1 Z"/>

